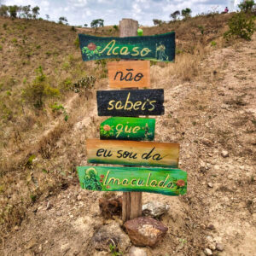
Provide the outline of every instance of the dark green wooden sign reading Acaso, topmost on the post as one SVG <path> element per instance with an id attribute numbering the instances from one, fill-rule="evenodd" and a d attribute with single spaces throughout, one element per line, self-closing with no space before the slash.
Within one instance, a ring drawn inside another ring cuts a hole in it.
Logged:
<path id="1" fill-rule="evenodd" d="M 83 61 L 109 58 L 174 61 L 175 58 L 175 32 L 129 38 L 102 38 L 79 34 L 79 43 Z"/>

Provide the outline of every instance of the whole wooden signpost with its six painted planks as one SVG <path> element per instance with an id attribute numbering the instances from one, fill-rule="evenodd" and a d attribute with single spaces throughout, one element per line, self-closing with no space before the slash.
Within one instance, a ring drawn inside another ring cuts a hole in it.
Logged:
<path id="1" fill-rule="evenodd" d="M 84 61 L 148 60 L 108 62 L 110 88 L 125 90 L 99 90 L 96 94 L 98 115 L 113 117 L 102 122 L 101 140 L 86 141 L 87 161 L 125 166 L 77 168 L 83 189 L 124 191 L 124 221 L 142 215 L 143 191 L 164 195 L 183 195 L 187 191 L 187 173 L 172 169 L 178 167 L 179 144 L 143 142 L 154 140 L 155 120 L 148 119 L 148 115 L 164 114 L 164 90 L 137 90 L 150 86 L 149 60 L 174 61 L 175 33 L 137 37 L 137 26 L 136 20 L 121 20 L 120 38 L 79 34 Z M 139 115 L 147 118 L 137 118 Z"/>

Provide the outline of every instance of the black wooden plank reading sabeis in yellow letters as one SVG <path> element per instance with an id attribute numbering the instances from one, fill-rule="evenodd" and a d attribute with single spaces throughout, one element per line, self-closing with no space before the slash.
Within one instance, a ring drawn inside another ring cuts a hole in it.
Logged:
<path id="1" fill-rule="evenodd" d="M 98 90 L 99 116 L 161 115 L 165 113 L 164 90 Z"/>

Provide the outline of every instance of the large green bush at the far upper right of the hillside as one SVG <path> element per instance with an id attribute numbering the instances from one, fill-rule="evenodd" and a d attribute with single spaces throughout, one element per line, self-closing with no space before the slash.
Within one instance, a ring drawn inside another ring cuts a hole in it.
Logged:
<path id="1" fill-rule="evenodd" d="M 224 33 L 224 38 L 233 37 L 251 40 L 255 31 L 254 17 L 241 12 L 229 20 L 230 30 Z"/>

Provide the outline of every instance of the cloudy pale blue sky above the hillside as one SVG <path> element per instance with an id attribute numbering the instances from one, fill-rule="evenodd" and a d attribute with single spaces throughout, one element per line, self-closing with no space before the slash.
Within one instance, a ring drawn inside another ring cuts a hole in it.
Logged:
<path id="1" fill-rule="evenodd" d="M 104 25 L 119 25 L 119 20 L 130 18 L 140 25 L 153 26 L 153 19 L 170 20 L 176 10 L 189 8 L 192 15 L 218 10 L 224 11 L 231 0 L 0 0 L 6 5 L 38 5 L 39 17 L 49 20 L 67 18 L 69 25 L 90 26 L 91 20 L 102 19 Z M 234 1 L 234 0 L 233 0 Z M 235 0 L 235 5 L 240 1 Z"/>

